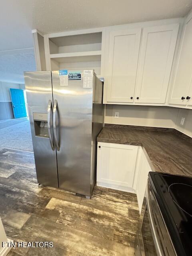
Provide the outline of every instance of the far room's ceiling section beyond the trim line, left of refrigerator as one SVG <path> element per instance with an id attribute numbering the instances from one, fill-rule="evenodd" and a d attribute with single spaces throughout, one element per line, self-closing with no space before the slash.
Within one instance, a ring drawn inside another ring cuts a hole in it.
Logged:
<path id="1" fill-rule="evenodd" d="M 35 71 L 33 48 L 0 52 L 0 81 L 24 84 L 24 71 Z"/>

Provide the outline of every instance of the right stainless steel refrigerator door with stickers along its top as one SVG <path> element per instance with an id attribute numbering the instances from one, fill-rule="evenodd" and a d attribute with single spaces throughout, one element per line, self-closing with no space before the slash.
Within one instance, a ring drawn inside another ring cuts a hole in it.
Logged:
<path id="1" fill-rule="evenodd" d="M 59 71 L 52 71 L 58 183 L 90 196 L 93 86 L 84 88 L 80 73 L 62 86 Z"/>

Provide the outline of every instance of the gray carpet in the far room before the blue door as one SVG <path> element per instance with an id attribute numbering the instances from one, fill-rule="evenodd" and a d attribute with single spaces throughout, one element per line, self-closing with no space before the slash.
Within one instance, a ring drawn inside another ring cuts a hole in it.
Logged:
<path id="1" fill-rule="evenodd" d="M 29 120 L 16 124 L 15 120 L 18 119 L 9 120 L 9 124 L 12 122 L 12 125 L 0 129 L 0 147 L 33 152 Z"/>

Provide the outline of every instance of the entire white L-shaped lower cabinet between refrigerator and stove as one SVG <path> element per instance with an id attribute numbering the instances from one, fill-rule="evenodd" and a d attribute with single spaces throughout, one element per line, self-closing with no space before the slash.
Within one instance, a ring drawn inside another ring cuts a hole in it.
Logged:
<path id="1" fill-rule="evenodd" d="M 150 171 L 142 147 L 98 142 L 97 186 L 136 193 L 140 212 Z"/>

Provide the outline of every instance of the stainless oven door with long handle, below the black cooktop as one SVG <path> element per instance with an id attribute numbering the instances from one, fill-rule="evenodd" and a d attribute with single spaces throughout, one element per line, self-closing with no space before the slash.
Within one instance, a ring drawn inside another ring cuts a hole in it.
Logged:
<path id="1" fill-rule="evenodd" d="M 176 256 L 154 191 L 148 180 L 135 240 L 136 256 Z"/>

